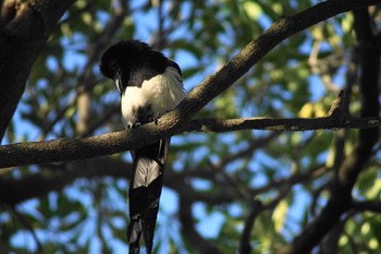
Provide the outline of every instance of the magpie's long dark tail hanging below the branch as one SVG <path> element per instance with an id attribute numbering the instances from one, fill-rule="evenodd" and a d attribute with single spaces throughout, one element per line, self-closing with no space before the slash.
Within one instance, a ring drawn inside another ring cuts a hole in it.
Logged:
<path id="1" fill-rule="evenodd" d="M 139 253 L 142 233 L 146 253 L 151 253 L 169 146 L 170 138 L 165 138 L 133 152 L 133 179 L 128 192 L 130 254 Z"/>

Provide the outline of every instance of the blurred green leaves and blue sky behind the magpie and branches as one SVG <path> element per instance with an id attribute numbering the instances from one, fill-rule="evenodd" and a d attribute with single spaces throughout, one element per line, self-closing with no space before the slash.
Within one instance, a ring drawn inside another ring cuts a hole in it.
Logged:
<path id="1" fill-rule="evenodd" d="M 185 87 L 192 90 L 272 22 L 314 3 L 78 0 L 34 64 L 7 142 L 122 130 L 119 96 L 98 70 L 101 52 L 120 39 L 142 39 L 163 50 L 182 66 Z M 118 20 L 120 12 L 125 14 Z M 379 8 L 370 13 L 380 21 Z M 358 81 L 351 78 L 358 74 L 352 64 L 359 64 L 353 23 L 348 12 L 292 36 L 197 117 L 321 117 L 340 89 L 349 92 L 349 110 L 357 116 Z M 357 134 L 349 130 L 244 131 L 173 137 L 156 253 L 197 253 L 204 246 L 236 252 L 254 201 L 262 206 L 250 230 L 253 253 L 273 253 L 290 244 L 327 204 L 335 156 L 348 155 Z M 339 140 L 345 144 L 337 152 Z M 353 191 L 358 201 L 380 196 L 379 153 L 374 150 Z M 2 173 L 1 178 L 14 180 L 51 177 L 63 184 L 15 207 L 1 205 L 1 252 L 126 252 L 128 173 L 109 172 L 107 165 L 122 161 L 115 167 L 127 168 L 130 156 L 103 160 L 99 174 L 91 173 L 91 159 L 85 167 L 62 162 Z M 343 223 L 340 253 L 381 251 L 377 214 L 349 211 Z M 201 242 L 193 242 L 184 229 L 189 225 Z M 323 246 L 319 252 L 324 253 Z"/>

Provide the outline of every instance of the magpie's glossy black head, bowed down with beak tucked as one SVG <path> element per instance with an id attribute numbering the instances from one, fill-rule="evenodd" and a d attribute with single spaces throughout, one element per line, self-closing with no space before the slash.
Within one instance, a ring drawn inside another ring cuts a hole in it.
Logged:
<path id="1" fill-rule="evenodd" d="M 142 85 L 162 73 L 168 59 L 147 44 L 138 40 L 122 40 L 108 48 L 100 60 L 101 73 L 115 82 L 120 94 L 128 85 Z"/>

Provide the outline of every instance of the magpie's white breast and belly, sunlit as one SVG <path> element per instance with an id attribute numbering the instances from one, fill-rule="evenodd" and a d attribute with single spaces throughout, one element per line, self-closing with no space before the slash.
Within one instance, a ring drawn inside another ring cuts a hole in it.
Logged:
<path id="1" fill-rule="evenodd" d="M 144 81 L 140 87 L 127 86 L 122 95 L 122 116 L 124 125 L 135 124 L 136 109 L 150 106 L 153 118 L 175 108 L 186 94 L 179 72 L 168 66 L 162 74 Z"/>

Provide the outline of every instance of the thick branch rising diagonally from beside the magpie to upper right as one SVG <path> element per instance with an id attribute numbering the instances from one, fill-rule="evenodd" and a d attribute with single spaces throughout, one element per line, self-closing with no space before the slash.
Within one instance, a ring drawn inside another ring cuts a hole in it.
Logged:
<path id="1" fill-rule="evenodd" d="M 274 22 L 261 36 L 251 40 L 239 53 L 207 77 L 181 104 L 183 120 L 190 119 L 210 100 L 234 84 L 254 64 L 290 36 L 342 12 L 380 3 L 379 0 L 329 0 L 293 16 Z"/>

